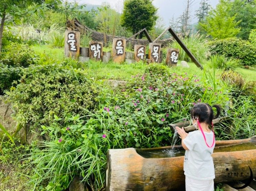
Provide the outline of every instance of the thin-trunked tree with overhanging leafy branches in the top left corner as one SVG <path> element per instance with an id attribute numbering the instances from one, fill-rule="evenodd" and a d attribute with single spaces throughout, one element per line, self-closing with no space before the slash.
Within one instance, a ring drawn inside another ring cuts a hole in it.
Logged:
<path id="1" fill-rule="evenodd" d="M 3 27 L 7 15 L 12 17 L 12 19 L 9 20 L 9 23 L 13 24 L 17 20 L 25 18 L 25 15 L 36 12 L 42 13 L 43 9 L 57 8 L 60 3 L 61 0 L 48 0 L 47 3 L 45 3 L 44 0 L 0 0 L 0 54 L 2 48 Z"/>

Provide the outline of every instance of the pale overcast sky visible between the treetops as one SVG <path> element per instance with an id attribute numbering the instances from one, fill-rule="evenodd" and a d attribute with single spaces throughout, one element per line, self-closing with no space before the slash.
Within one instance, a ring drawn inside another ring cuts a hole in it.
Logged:
<path id="1" fill-rule="evenodd" d="M 124 0 L 80 0 L 83 4 L 96 4 L 101 5 L 102 2 L 110 3 L 111 7 L 118 12 L 122 12 Z M 199 8 L 201 0 L 195 0 L 191 7 L 192 22 L 197 22 L 195 18 L 195 11 Z M 185 10 L 187 0 L 153 0 L 153 4 L 158 8 L 158 15 L 163 18 L 165 26 L 168 26 L 169 20 L 174 17 L 174 20 L 178 18 Z M 218 0 L 209 0 L 212 7 L 215 7 Z"/>

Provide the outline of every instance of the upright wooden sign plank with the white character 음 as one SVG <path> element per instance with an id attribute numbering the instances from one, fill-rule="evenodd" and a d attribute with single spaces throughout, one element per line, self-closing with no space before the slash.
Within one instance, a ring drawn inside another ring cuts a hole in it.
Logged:
<path id="1" fill-rule="evenodd" d="M 125 59 L 126 39 L 113 38 L 112 45 L 112 60 L 117 63 L 122 63 Z"/>

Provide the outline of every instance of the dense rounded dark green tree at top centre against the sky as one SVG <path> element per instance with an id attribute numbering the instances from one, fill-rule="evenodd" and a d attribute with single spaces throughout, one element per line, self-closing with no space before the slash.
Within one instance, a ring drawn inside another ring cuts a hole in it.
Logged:
<path id="1" fill-rule="evenodd" d="M 157 19 L 157 8 L 152 0 L 125 0 L 121 25 L 132 31 L 133 34 L 146 28 L 153 28 Z M 139 35 L 142 38 L 143 33 Z"/>

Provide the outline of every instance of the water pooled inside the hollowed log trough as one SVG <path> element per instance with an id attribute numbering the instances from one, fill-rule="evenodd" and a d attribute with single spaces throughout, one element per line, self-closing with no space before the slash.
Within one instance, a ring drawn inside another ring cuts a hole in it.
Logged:
<path id="1" fill-rule="evenodd" d="M 236 145 L 216 145 L 213 152 L 230 152 L 240 150 L 256 149 L 256 143 L 242 143 Z M 144 158 L 168 158 L 184 156 L 185 150 L 182 147 L 173 148 L 158 148 L 158 149 L 136 149 L 137 153 Z"/>

